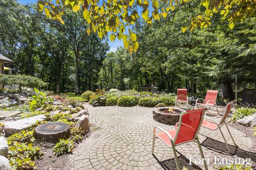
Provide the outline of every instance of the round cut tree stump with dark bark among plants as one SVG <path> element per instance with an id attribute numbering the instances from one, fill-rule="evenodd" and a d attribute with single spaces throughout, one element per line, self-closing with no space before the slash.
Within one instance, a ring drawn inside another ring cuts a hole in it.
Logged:
<path id="1" fill-rule="evenodd" d="M 69 125 L 61 122 L 47 122 L 35 128 L 35 138 L 42 142 L 59 142 L 70 137 Z"/>

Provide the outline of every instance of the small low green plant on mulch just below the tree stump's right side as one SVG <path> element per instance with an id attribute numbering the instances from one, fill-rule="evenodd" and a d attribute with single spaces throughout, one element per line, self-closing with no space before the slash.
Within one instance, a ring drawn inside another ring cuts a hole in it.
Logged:
<path id="1" fill-rule="evenodd" d="M 67 139 L 60 139 L 58 143 L 53 148 L 53 153 L 55 156 L 61 156 L 63 154 L 67 154 L 72 152 L 74 148 L 74 142 L 73 140 Z"/>

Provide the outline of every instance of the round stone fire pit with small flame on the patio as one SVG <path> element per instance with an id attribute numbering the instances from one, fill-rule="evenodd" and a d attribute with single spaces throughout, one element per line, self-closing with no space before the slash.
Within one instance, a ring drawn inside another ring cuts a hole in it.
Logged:
<path id="1" fill-rule="evenodd" d="M 175 125 L 176 122 L 179 122 L 180 114 L 184 112 L 183 109 L 172 108 L 172 111 L 169 112 L 170 107 L 158 107 L 153 110 L 153 118 L 157 122 L 164 124 Z"/>

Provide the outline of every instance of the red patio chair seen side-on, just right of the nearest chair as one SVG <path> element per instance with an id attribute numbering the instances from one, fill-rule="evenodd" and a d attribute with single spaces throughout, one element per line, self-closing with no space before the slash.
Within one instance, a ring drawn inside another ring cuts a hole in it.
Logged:
<path id="1" fill-rule="evenodd" d="M 233 103 L 234 103 L 235 101 L 236 101 L 236 100 L 230 101 L 230 102 L 227 104 L 227 106 L 225 107 L 225 111 L 223 112 L 223 115 L 222 115 L 222 116 L 220 116 L 220 115 L 218 115 L 218 114 L 207 113 L 207 114 L 210 114 L 210 115 L 213 115 L 213 116 L 221 117 L 221 120 L 220 120 L 219 123 L 217 123 L 216 121 L 212 120 L 211 118 L 206 118 L 206 117 L 204 117 L 205 120 L 203 120 L 203 123 L 202 123 L 202 126 L 203 126 L 204 128 L 207 128 L 207 129 L 210 129 L 210 130 L 213 130 L 213 131 L 215 131 L 215 130 L 217 130 L 217 129 L 220 130 L 220 133 L 221 133 L 221 135 L 222 135 L 222 138 L 224 139 L 224 141 L 225 141 L 225 143 L 226 143 L 226 146 L 227 146 L 228 151 L 230 152 L 230 154 L 231 154 L 231 151 L 230 151 L 230 149 L 229 149 L 229 147 L 228 147 L 228 143 L 227 143 L 227 141 L 226 141 L 226 139 L 225 139 L 225 137 L 224 137 L 224 134 L 223 134 L 222 131 L 221 131 L 221 127 L 225 124 L 225 126 L 226 126 L 226 128 L 227 128 L 227 130 L 228 130 L 228 133 L 229 133 L 231 139 L 233 140 L 235 146 L 237 146 L 236 143 L 235 143 L 235 140 L 234 140 L 234 138 L 232 137 L 232 135 L 231 135 L 231 133 L 230 133 L 230 131 L 229 131 L 229 129 L 228 129 L 228 126 L 227 126 L 227 124 L 226 124 L 226 122 L 225 122 L 225 121 L 226 121 L 226 118 L 227 118 L 227 116 L 228 116 L 228 114 L 229 114 L 229 112 L 231 111 L 232 105 L 233 105 Z M 237 147 L 238 147 L 238 146 L 237 146 Z"/>

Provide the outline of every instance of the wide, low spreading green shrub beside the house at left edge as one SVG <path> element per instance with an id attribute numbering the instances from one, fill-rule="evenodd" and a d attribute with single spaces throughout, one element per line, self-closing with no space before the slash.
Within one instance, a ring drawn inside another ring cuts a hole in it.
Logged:
<path id="1" fill-rule="evenodd" d="M 4 85 L 17 85 L 21 91 L 21 87 L 39 88 L 46 87 L 48 83 L 42 81 L 39 78 L 33 77 L 31 75 L 7 75 L 0 74 L 0 84 Z"/>

